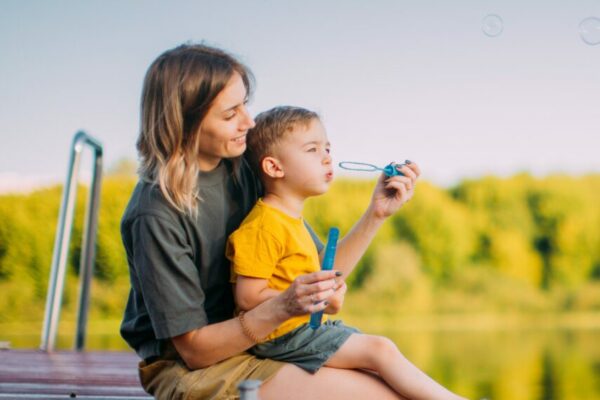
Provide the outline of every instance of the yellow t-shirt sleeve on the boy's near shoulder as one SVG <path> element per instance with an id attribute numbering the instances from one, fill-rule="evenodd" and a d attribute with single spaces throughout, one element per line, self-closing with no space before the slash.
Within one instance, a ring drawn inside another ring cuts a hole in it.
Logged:
<path id="1" fill-rule="evenodd" d="M 283 245 L 264 229 L 240 228 L 229 236 L 225 254 L 234 276 L 269 279 L 283 257 Z"/>

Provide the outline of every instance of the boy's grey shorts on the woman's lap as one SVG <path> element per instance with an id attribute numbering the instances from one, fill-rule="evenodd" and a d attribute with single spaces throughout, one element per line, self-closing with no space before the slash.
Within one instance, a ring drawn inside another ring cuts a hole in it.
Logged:
<path id="1" fill-rule="evenodd" d="M 304 324 L 283 336 L 257 344 L 249 352 L 260 358 L 270 358 L 297 365 L 312 374 L 344 344 L 356 328 L 341 320 L 327 320 L 317 329 Z"/>

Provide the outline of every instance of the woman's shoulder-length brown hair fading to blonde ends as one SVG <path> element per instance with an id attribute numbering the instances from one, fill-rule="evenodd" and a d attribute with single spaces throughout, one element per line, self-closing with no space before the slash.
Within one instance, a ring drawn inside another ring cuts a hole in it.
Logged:
<path id="1" fill-rule="evenodd" d="M 183 44 L 161 54 L 148 68 L 137 140 L 140 178 L 157 184 L 178 211 L 195 215 L 200 124 L 233 74 L 248 96 L 252 73 L 223 50 Z"/>

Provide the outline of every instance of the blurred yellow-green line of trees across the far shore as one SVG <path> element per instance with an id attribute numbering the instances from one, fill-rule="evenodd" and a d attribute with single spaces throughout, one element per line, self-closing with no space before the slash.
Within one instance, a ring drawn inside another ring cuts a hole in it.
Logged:
<path id="1" fill-rule="evenodd" d="M 103 181 L 91 318 L 122 313 L 129 276 L 119 222 L 134 185 L 128 176 Z M 338 179 L 309 201 L 305 217 L 323 238 L 331 226 L 344 234 L 373 185 Z M 71 316 L 85 196 L 81 190 L 77 199 L 64 296 Z M 0 321 L 43 315 L 60 198 L 59 187 L 0 196 Z M 598 175 L 485 177 L 449 189 L 421 182 L 349 282 L 357 295 L 376 292 L 396 310 L 402 299 L 408 308 L 469 311 L 481 296 L 502 298 L 505 309 L 600 309 L 598 205 Z"/>

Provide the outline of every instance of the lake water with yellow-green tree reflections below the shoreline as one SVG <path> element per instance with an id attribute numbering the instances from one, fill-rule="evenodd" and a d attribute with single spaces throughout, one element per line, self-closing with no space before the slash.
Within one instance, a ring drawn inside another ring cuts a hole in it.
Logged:
<path id="1" fill-rule="evenodd" d="M 365 329 L 366 330 L 366 329 Z M 37 330 L 31 330 L 36 332 Z M 471 399 L 600 399 L 600 330 L 385 331 L 416 365 Z M 13 348 L 39 335 L 0 333 Z M 59 337 L 70 348 L 72 337 Z M 126 350 L 115 335 L 90 335 L 89 349 Z"/>

